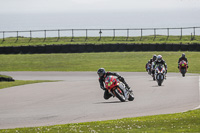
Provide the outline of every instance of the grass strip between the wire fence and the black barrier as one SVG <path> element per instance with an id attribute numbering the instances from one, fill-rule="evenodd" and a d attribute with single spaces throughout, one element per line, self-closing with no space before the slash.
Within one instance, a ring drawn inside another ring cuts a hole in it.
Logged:
<path id="1" fill-rule="evenodd" d="M 88 37 L 87 40 L 85 37 L 48 37 L 44 38 L 30 38 L 27 37 L 9 37 L 0 39 L 0 46 L 28 46 L 28 45 L 58 45 L 58 44 L 120 44 L 120 43 L 128 43 L 128 44 L 141 44 L 141 43 L 150 43 L 150 44 L 192 44 L 198 43 L 200 44 L 200 36 L 195 36 L 194 40 L 191 40 L 191 36 L 163 36 L 157 35 L 156 38 L 154 36 L 143 36 L 141 37 L 102 37 L 99 40 L 99 37 Z"/>

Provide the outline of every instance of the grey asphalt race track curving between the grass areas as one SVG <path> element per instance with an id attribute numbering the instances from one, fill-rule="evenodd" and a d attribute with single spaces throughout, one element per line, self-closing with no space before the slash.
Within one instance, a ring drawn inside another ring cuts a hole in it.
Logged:
<path id="1" fill-rule="evenodd" d="M 168 73 L 158 86 L 146 72 L 119 72 L 135 100 L 104 100 L 96 72 L 1 72 L 15 80 L 61 80 L 0 89 L 0 129 L 184 112 L 200 105 L 199 75 Z"/>

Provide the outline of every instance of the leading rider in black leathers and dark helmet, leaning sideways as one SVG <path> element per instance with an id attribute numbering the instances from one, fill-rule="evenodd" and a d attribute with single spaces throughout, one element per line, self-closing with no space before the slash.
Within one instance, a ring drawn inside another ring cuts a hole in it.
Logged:
<path id="1" fill-rule="evenodd" d="M 122 83 L 126 85 L 126 87 L 131 91 L 129 85 L 125 82 L 124 78 L 120 76 L 117 73 L 113 72 L 106 72 L 104 68 L 100 68 L 97 71 L 97 74 L 99 75 L 99 83 L 100 83 L 100 88 L 102 90 L 105 90 L 104 92 L 104 99 L 109 99 L 112 95 L 108 92 L 108 90 L 105 88 L 104 83 L 105 83 L 105 78 L 109 75 L 116 76 Z"/>

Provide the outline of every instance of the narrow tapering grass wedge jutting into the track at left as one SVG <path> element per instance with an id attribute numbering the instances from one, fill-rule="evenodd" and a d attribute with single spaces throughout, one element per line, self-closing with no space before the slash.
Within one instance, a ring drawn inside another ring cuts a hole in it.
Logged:
<path id="1" fill-rule="evenodd" d="M 41 83 L 41 82 L 53 82 L 50 80 L 16 80 L 14 82 L 0 82 L 0 89 L 8 88 L 12 86 L 20 86 L 25 84 Z"/>

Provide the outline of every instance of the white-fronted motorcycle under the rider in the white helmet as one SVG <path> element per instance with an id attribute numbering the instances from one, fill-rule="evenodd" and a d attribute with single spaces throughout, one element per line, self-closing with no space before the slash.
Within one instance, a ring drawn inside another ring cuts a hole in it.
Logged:
<path id="1" fill-rule="evenodd" d="M 165 71 L 164 65 L 159 64 L 159 65 L 156 66 L 155 79 L 156 79 L 156 81 L 158 83 L 158 86 L 162 85 L 162 83 L 163 83 L 163 81 L 165 79 L 165 72 L 166 71 Z"/>

